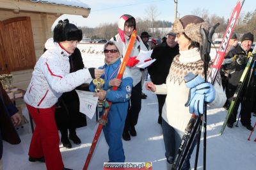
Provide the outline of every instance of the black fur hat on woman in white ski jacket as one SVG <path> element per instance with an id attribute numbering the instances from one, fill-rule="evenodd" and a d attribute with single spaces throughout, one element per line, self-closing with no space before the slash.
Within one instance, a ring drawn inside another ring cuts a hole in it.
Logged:
<path id="1" fill-rule="evenodd" d="M 78 29 L 74 24 L 70 24 L 68 19 L 59 20 L 57 26 L 53 30 L 54 42 L 65 42 L 71 40 L 81 41 L 83 33 L 81 29 Z"/>

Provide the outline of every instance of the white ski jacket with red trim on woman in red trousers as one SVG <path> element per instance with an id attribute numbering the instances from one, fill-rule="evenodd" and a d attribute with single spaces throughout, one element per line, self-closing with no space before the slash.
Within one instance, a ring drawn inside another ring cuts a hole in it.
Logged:
<path id="1" fill-rule="evenodd" d="M 83 83 L 90 83 L 92 75 L 87 68 L 70 72 L 67 51 L 50 38 L 45 43 L 47 51 L 36 62 L 24 101 L 36 108 L 49 108 L 56 104 L 62 93 Z"/>

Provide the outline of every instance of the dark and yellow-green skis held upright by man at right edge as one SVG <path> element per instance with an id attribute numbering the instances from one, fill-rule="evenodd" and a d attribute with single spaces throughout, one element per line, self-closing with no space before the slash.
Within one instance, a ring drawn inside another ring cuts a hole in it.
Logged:
<path id="1" fill-rule="evenodd" d="M 230 103 L 230 106 L 228 107 L 228 112 L 227 112 L 227 116 L 225 118 L 225 121 L 221 127 L 221 130 L 220 130 L 220 134 L 222 135 L 224 130 L 225 130 L 225 127 L 227 125 L 227 122 L 228 122 L 228 119 L 230 118 L 230 115 L 234 112 L 234 108 L 236 108 L 237 104 L 237 101 L 240 97 L 240 94 L 241 94 L 241 91 L 244 87 L 244 82 L 246 80 L 248 80 L 248 83 L 250 82 L 250 77 L 252 77 L 253 73 L 254 73 L 254 66 L 253 66 L 253 63 L 255 62 L 253 59 L 253 55 L 256 54 L 256 46 L 253 48 L 253 51 L 252 51 L 252 54 L 250 56 L 250 58 L 248 59 L 248 62 L 246 64 L 246 67 L 244 68 L 244 71 L 243 71 L 243 74 L 241 75 L 241 78 L 239 80 L 239 83 L 237 85 L 237 89 L 236 89 L 236 92 L 234 94 L 234 97 L 232 98 L 232 102 Z"/>

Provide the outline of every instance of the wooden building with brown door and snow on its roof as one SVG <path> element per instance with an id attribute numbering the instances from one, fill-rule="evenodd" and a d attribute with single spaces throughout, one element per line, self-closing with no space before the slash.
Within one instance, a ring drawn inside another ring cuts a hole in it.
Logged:
<path id="1" fill-rule="evenodd" d="M 0 0 L 0 74 L 12 73 L 17 88 L 28 87 L 52 24 L 63 14 L 88 17 L 90 8 L 82 0 Z"/>

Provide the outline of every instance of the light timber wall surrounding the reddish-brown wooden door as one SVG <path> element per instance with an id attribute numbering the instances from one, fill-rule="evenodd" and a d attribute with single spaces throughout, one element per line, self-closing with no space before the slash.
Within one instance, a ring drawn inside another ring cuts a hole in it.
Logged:
<path id="1" fill-rule="evenodd" d="M 6 20 L 13 17 L 30 17 L 35 45 L 36 61 L 42 55 L 44 43 L 52 36 L 51 27 L 58 16 L 46 13 L 18 12 L 13 10 L 4 10 L 0 7 L 0 20 Z M 33 69 L 12 72 L 13 85 L 21 89 L 26 89 L 31 80 Z"/>

